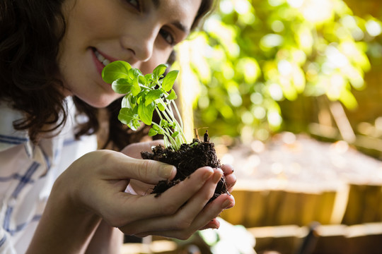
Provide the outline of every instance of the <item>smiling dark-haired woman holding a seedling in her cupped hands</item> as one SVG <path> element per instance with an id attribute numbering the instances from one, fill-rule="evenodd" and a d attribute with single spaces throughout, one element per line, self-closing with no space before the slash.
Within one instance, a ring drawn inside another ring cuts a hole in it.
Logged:
<path id="1" fill-rule="evenodd" d="M 211 6 L 209 0 L 1 1 L 0 253 L 116 253 L 122 232 L 188 238 L 219 227 L 215 218 L 234 205 L 233 197 L 206 204 L 223 174 L 233 186 L 233 169 L 204 167 L 158 198 L 142 195 L 176 169 L 137 159 L 157 142 L 128 145 L 142 135 L 117 123 L 120 95 L 100 77 L 117 59 L 151 72 Z M 98 121 L 105 107 L 106 125 Z M 128 145 L 122 152 L 96 150 L 91 134 L 105 126 L 109 147 Z"/>

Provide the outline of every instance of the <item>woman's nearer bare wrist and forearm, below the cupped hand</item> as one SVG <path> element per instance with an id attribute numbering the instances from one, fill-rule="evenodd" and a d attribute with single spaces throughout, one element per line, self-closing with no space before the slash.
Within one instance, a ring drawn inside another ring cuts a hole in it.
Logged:
<path id="1" fill-rule="evenodd" d="M 59 177 L 27 253 L 84 253 L 100 221 L 74 198 L 70 182 Z"/>

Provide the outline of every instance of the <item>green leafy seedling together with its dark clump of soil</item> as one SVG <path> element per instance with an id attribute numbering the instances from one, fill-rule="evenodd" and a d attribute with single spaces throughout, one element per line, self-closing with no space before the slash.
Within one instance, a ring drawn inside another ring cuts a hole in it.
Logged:
<path id="1" fill-rule="evenodd" d="M 177 95 L 173 85 L 179 71 L 170 71 L 164 75 L 167 64 L 158 65 L 153 73 L 143 75 L 137 68 L 132 68 L 125 61 L 114 61 L 103 68 L 102 77 L 106 83 L 112 84 L 112 89 L 125 95 L 118 119 L 133 131 L 141 123 L 151 126 L 149 135 L 163 135 L 165 147 L 157 145 L 151 152 L 141 152 L 142 159 L 154 159 L 177 168 L 174 179 L 159 181 L 152 193 L 160 195 L 171 186 L 183 181 L 200 167 L 219 168 L 220 160 L 216 157 L 214 143 L 209 142 L 207 132 L 204 142 L 194 139 L 187 144 L 183 133 L 183 121 L 180 117 L 175 99 Z M 160 117 L 159 123 L 153 121 L 156 111 Z M 175 118 L 178 116 L 179 121 Z M 221 193 L 227 192 L 224 176 L 216 186 L 214 200 Z"/>

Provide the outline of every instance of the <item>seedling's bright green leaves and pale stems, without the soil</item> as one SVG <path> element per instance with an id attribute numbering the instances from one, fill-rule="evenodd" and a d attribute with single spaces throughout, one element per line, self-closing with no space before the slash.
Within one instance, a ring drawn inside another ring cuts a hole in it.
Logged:
<path id="1" fill-rule="evenodd" d="M 170 71 L 165 76 L 167 68 L 167 64 L 160 64 L 153 73 L 143 75 L 125 61 L 114 61 L 103 68 L 102 78 L 112 84 L 115 92 L 125 95 L 118 115 L 122 123 L 137 131 L 143 122 L 151 126 L 150 136 L 161 134 L 166 147 L 179 150 L 180 145 L 187 143 L 173 90 L 179 71 Z M 159 123 L 152 120 L 154 111 L 161 119 Z"/>

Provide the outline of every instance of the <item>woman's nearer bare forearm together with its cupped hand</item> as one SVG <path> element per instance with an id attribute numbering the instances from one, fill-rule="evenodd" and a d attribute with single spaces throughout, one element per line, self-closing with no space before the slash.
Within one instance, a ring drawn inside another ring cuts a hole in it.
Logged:
<path id="1" fill-rule="evenodd" d="M 91 152 L 54 183 L 28 253 L 84 253 L 101 218 L 125 234 L 190 237 L 233 206 L 230 195 L 209 203 L 221 169 L 203 167 L 159 197 L 125 193 L 130 179 L 173 179 L 175 167 L 120 152 Z M 185 205 L 186 204 L 186 205 Z"/>

